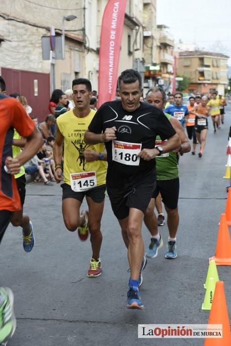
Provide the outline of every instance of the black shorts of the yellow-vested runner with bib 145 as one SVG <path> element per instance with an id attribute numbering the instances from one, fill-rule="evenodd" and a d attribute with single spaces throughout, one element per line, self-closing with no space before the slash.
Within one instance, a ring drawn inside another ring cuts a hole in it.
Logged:
<path id="1" fill-rule="evenodd" d="M 91 197 L 95 203 L 101 203 L 105 199 L 106 184 L 96 186 L 93 189 L 84 192 L 73 191 L 71 185 L 66 183 L 61 184 L 61 187 L 63 189 L 63 200 L 65 198 L 75 198 L 82 203 L 83 198 L 87 196 Z"/>

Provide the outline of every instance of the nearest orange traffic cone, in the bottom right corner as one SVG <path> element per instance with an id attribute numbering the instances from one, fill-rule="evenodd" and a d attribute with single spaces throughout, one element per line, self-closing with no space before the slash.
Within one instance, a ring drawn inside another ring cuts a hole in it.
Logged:
<path id="1" fill-rule="evenodd" d="M 231 346 L 230 320 L 223 281 L 216 283 L 208 324 L 222 324 L 222 338 L 206 338 L 204 346 Z"/>

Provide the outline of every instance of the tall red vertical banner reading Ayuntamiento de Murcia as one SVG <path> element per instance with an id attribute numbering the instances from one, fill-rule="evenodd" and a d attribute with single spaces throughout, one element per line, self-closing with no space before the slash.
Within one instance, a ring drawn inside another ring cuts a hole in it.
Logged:
<path id="1" fill-rule="evenodd" d="M 99 106 L 114 100 L 116 95 L 125 8 L 126 0 L 109 0 L 104 10 L 99 51 Z"/>

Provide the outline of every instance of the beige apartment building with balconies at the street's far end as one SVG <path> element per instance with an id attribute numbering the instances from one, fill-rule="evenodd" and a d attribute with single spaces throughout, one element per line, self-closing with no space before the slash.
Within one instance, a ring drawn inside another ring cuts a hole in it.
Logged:
<path id="1" fill-rule="evenodd" d="M 177 72 L 190 78 L 188 91 L 209 93 L 217 90 L 224 95 L 228 84 L 229 56 L 201 50 L 179 53 Z"/>

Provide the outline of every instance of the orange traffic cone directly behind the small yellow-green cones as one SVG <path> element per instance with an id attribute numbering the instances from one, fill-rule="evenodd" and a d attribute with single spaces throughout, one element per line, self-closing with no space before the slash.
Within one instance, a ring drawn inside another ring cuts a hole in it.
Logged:
<path id="1" fill-rule="evenodd" d="M 226 214 L 221 214 L 215 256 L 209 260 L 211 259 L 215 260 L 217 265 L 231 265 L 231 241 Z"/>

